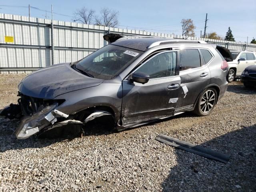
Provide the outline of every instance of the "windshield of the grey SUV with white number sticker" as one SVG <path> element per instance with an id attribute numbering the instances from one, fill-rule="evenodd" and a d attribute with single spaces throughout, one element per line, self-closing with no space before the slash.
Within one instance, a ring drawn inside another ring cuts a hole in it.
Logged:
<path id="1" fill-rule="evenodd" d="M 76 64 L 94 78 L 112 79 L 129 66 L 141 51 L 109 44 L 83 58 Z"/>

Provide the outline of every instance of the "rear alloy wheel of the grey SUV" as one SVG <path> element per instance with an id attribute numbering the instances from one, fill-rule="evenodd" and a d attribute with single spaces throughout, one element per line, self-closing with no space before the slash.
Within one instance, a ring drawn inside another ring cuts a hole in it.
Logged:
<path id="1" fill-rule="evenodd" d="M 215 93 L 212 90 L 207 90 L 200 101 L 200 110 L 202 113 L 208 113 L 212 110 L 215 103 Z"/>

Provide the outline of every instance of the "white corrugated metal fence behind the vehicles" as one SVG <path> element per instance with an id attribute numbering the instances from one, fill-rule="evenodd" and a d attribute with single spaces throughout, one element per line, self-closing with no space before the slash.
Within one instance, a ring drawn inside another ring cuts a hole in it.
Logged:
<path id="1" fill-rule="evenodd" d="M 31 72 L 52 64 L 51 20 L 11 14 L 0 14 L 0 73 Z M 105 46 L 102 36 L 109 32 L 124 36 L 151 35 L 171 38 L 183 36 L 108 28 L 74 22 L 53 21 L 54 64 L 73 62 L 84 58 L 95 50 Z M 10 37 L 6 40 L 6 36 Z M 13 39 L 12 39 L 13 37 Z M 253 50 L 255 44 L 192 38 L 204 40 L 229 48 L 230 50 Z M 7 41 L 7 42 L 6 42 Z"/>

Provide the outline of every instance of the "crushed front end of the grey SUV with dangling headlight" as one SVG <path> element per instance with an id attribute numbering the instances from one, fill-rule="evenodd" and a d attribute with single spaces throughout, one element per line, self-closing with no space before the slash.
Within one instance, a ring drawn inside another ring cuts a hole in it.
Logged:
<path id="1" fill-rule="evenodd" d="M 26 139 L 38 132 L 50 129 L 56 122 L 67 120 L 67 114 L 56 110 L 64 100 L 48 100 L 33 98 L 18 92 L 18 104 L 10 104 L 4 108 L 0 116 L 7 118 L 20 118 L 20 124 L 16 129 L 18 139 Z"/>

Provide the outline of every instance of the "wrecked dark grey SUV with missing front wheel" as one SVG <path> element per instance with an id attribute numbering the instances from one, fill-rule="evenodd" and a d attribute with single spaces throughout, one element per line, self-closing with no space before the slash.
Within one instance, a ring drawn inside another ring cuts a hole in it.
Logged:
<path id="1" fill-rule="evenodd" d="M 72 63 L 49 66 L 18 85 L 18 103 L 0 115 L 21 118 L 18 139 L 106 116 L 117 130 L 186 111 L 212 112 L 227 89 L 221 46 L 198 40 L 104 36 L 110 44 Z"/>

